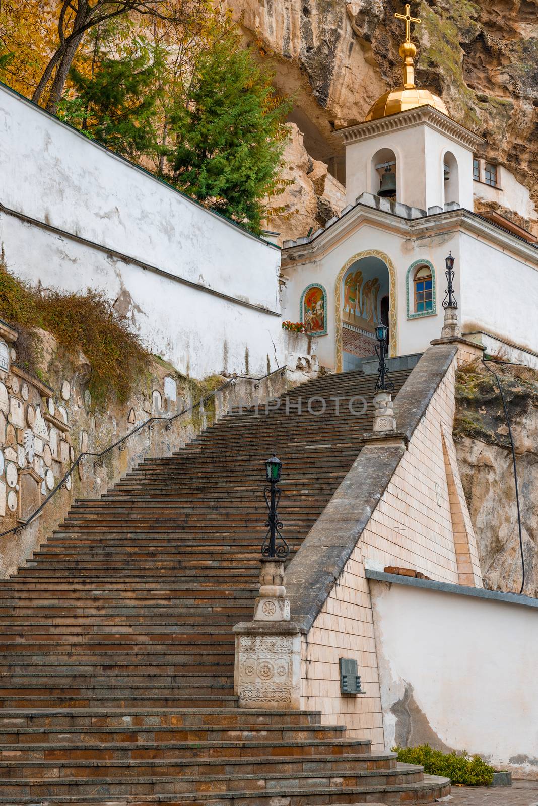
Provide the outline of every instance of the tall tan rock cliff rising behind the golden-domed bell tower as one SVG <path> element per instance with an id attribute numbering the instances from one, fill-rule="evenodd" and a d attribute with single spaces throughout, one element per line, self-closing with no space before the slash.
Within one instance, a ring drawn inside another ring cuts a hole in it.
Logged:
<path id="1" fill-rule="evenodd" d="M 229 2 L 273 64 L 278 88 L 296 99 L 291 119 L 309 155 L 342 179 L 332 132 L 363 120 L 375 99 L 399 83 L 402 25 L 394 14 L 403 4 Z M 505 164 L 538 202 L 538 0 L 420 0 L 411 10 L 422 20 L 413 34 L 417 82 L 485 136 L 484 156 Z M 538 221 L 528 226 L 536 229 Z"/>

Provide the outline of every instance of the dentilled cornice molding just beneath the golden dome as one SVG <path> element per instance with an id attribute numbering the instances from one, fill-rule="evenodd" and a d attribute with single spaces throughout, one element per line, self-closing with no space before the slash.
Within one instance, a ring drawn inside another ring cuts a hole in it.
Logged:
<path id="1" fill-rule="evenodd" d="M 486 140 L 480 135 L 475 135 L 474 131 L 466 129 L 460 123 L 449 118 L 432 106 L 417 106 L 415 109 L 410 109 L 398 114 L 391 114 L 387 118 L 379 118 L 378 120 L 369 120 L 366 123 L 358 123 L 356 126 L 350 126 L 346 129 L 339 129 L 334 132 L 334 135 L 340 137 L 345 146 L 351 143 L 357 143 L 359 140 L 365 140 L 376 135 L 383 135 L 387 131 L 397 131 L 399 129 L 408 129 L 414 126 L 419 126 L 424 123 L 432 129 L 441 131 L 442 134 L 447 135 L 457 143 L 470 148 L 475 151 L 478 146 L 485 143 Z"/>

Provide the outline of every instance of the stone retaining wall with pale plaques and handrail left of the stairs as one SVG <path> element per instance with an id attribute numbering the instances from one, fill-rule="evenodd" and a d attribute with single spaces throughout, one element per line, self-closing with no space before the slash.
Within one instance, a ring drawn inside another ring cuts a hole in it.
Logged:
<path id="1" fill-rule="evenodd" d="M 279 394 L 286 383 L 275 376 L 256 392 L 248 380 L 230 384 L 203 410 L 174 420 L 170 430 L 164 422 L 155 423 L 127 439 L 122 450 L 96 457 L 148 418 L 168 418 L 197 404 L 209 387 L 155 360 L 128 401 L 110 401 L 100 409 L 89 392 L 91 367 L 85 355 L 69 358 L 51 334 L 40 335 L 40 375 L 48 383 L 19 366 L 17 332 L 0 320 L 0 578 L 31 557 L 64 520 L 75 497 L 101 496 L 146 456 L 176 451 L 239 397 L 248 401 L 256 394 L 263 400 Z M 221 383 L 226 380 L 223 376 Z M 214 379 L 211 384 L 214 388 Z M 73 467 L 81 452 L 89 455 Z"/>

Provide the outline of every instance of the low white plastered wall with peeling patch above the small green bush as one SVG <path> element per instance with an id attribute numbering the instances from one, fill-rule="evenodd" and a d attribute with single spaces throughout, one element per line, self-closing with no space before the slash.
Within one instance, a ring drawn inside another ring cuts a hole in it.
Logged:
<path id="1" fill-rule="evenodd" d="M 387 746 L 408 733 L 536 777 L 538 609 L 375 580 L 370 592 Z"/>

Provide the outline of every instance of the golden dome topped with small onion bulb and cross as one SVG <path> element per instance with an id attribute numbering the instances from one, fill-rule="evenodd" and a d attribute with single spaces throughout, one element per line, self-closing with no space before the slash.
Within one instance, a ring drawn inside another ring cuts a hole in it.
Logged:
<path id="1" fill-rule="evenodd" d="M 378 98 L 374 106 L 370 106 L 370 110 L 364 118 L 365 122 L 387 118 L 389 114 L 416 109 L 417 106 L 432 106 L 433 109 L 448 115 L 449 110 L 438 95 L 431 93 L 429 89 L 420 89 L 415 85 L 413 59 L 416 56 L 416 47 L 409 38 L 409 26 L 410 23 L 420 23 L 420 19 L 409 14 L 409 3 L 405 5 L 405 15 L 395 14 L 395 17 L 405 20 L 405 39 L 399 48 L 399 55 L 403 59 L 403 83 L 401 87 L 390 89 L 389 92 Z"/>

